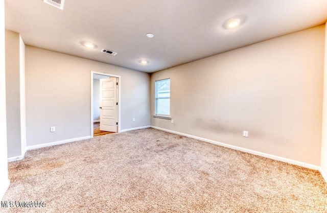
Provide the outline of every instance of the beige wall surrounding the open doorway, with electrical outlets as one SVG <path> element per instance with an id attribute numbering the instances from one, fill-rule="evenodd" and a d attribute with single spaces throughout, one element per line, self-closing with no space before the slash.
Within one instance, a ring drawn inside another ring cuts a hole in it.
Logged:
<path id="1" fill-rule="evenodd" d="M 27 146 L 90 136 L 91 71 L 121 76 L 122 130 L 150 125 L 149 74 L 26 46 Z"/>

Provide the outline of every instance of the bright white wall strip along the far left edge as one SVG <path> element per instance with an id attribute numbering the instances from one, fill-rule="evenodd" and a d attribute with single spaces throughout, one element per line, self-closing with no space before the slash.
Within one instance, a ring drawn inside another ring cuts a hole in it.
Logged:
<path id="1" fill-rule="evenodd" d="M 7 120 L 6 120 L 6 59 L 5 59 L 5 3 L 0 0 L 0 200 L 8 180 Z"/>

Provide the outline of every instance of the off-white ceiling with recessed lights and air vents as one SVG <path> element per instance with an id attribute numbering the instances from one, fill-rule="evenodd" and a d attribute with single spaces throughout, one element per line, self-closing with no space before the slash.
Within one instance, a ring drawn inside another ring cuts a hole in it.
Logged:
<path id="1" fill-rule="evenodd" d="M 152 73 L 322 25 L 327 1 L 65 0 L 60 10 L 42 0 L 5 0 L 5 13 L 6 29 L 27 45 Z M 224 29 L 232 17 L 243 24 Z"/>

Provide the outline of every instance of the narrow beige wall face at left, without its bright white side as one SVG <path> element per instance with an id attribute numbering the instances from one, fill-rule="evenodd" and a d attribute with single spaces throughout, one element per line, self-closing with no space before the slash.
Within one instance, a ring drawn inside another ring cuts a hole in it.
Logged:
<path id="1" fill-rule="evenodd" d="M 20 37 L 6 30 L 6 101 L 8 157 L 21 155 Z"/>

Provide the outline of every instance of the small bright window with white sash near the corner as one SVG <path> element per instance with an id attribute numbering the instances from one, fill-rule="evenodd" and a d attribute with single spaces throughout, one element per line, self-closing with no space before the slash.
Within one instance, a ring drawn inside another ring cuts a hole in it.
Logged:
<path id="1" fill-rule="evenodd" d="M 170 79 L 155 82 L 155 114 L 170 115 Z"/>

